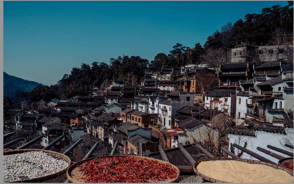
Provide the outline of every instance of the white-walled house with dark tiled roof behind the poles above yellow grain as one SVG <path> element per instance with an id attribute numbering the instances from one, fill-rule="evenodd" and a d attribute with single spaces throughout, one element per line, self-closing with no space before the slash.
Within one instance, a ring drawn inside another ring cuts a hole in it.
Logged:
<path id="1" fill-rule="evenodd" d="M 246 126 L 237 125 L 236 127 L 232 128 L 228 133 L 228 150 L 231 150 L 231 144 L 233 143 L 236 143 L 243 147 L 245 142 L 247 142 L 246 149 L 257 153 L 275 163 L 278 163 L 279 159 L 257 150 L 257 147 L 261 147 L 284 157 L 289 157 L 288 155 L 285 155 L 281 152 L 277 152 L 275 150 L 267 148 L 267 145 L 271 145 L 285 150 L 284 144 L 286 142 L 284 140 L 290 140 L 291 142 L 287 143 L 293 145 L 293 120 L 288 120 L 282 120 L 274 124 L 269 122 L 251 123 L 247 121 L 245 124 Z M 238 155 L 241 152 L 241 150 L 237 148 L 234 148 L 233 150 L 235 155 Z M 257 158 L 254 158 L 245 152 L 243 152 L 241 158 L 257 160 Z"/>

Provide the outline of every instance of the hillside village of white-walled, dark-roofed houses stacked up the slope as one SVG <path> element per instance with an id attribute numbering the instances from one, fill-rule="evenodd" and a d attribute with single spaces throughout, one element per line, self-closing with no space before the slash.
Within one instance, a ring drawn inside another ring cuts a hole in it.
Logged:
<path id="1" fill-rule="evenodd" d="M 158 158 L 158 145 L 170 154 L 180 143 L 199 160 L 203 155 L 193 146 L 198 143 L 215 156 L 230 157 L 223 147 L 240 158 L 254 159 L 235 143 L 277 163 L 279 159 L 257 147 L 293 145 L 293 56 L 289 54 L 293 55 L 293 41 L 280 48 L 257 47 L 260 63 L 248 62 L 249 47 L 228 50 L 231 62 L 219 68 L 205 64 L 185 65 L 181 71 L 162 68 L 146 73 L 140 85 L 114 79 L 108 87 L 94 87 L 88 96 L 41 100 L 38 110 L 15 111 L 14 119 L 4 121 L 4 134 L 16 132 L 4 144 L 22 138 L 4 150 L 17 149 L 40 135 L 28 148 L 43 149 L 65 135 L 51 150 L 64 152 L 83 139 L 70 155 L 75 162 L 96 142 L 100 144 L 94 156 L 109 155 L 117 146 L 115 154 L 141 151 Z M 218 86 L 207 92 L 213 80 Z M 177 154 L 170 155 L 171 162 L 180 157 Z M 187 165 L 183 160 L 174 162 Z"/>

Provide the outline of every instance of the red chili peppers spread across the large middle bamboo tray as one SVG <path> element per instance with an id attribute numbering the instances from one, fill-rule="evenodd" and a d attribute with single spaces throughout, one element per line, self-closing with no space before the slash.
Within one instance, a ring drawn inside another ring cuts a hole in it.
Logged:
<path id="1" fill-rule="evenodd" d="M 137 157 L 102 157 L 79 167 L 85 182 L 158 182 L 177 176 L 170 164 Z"/>

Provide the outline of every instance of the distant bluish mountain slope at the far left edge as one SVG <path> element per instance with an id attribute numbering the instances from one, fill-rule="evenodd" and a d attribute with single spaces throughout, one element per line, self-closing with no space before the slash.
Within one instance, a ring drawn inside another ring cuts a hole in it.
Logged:
<path id="1" fill-rule="evenodd" d="M 43 84 L 25 80 L 19 77 L 8 75 L 7 73 L 3 72 L 3 94 L 6 95 L 8 93 L 8 96 L 12 96 L 14 92 L 16 91 L 24 91 L 24 92 L 30 92 L 34 89 L 36 86 L 44 86 Z"/>

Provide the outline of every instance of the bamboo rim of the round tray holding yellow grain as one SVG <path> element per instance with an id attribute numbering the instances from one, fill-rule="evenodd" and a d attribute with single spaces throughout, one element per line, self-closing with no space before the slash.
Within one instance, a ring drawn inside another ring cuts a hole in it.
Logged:
<path id="1" fill-rule="evenodd" d="M 218 180 L 218 179 L 214 179 L 214 178 L 211 178 L 211 177 L 208 177 L 208 176 L 205 176 L 204 174 L 201 174 L 196 168 L 197 168 L 197 165 L 202 162 L 202 161 L 210 161 L 210 160 L 235 160 L 235 161 L 242 161 L 242 162 L 247 162 L 249 164 L 263 164 L 263 165 L 267 165 L 269 167 L 274 167 L 276 169 L 281 169 L 281 170 L 284 170 L 286 172 L 288 172 L 290 175 L 293 176 L 293 170 L 291 171 L 290 169 L 288 168 L 285 168 L 285 167 L 281 167 L 281 166 L 278 166 L 276 164 L 271 164 L 271 163 L 268 163 L 268 162 L 264 162 L 264 161 L 258 161 L 258 160 L 248 160 L 248 159 L 242 159 L 242 158 L 221 158 L 221 157 L 215 157 L 215 158 L 205 158 L 205 159 L 202 159 L 202 160 L 199 160 L 197 161 L 194 166 L 193 166 L 193 170 L 194 172 L 200 176 L 201 178 L 209 181 L 209 182 L 212 182 L 212 183 L 228 183 L 228 182 L 225 182 L 225 181 L 222 181 L 222 180 Z"/>

